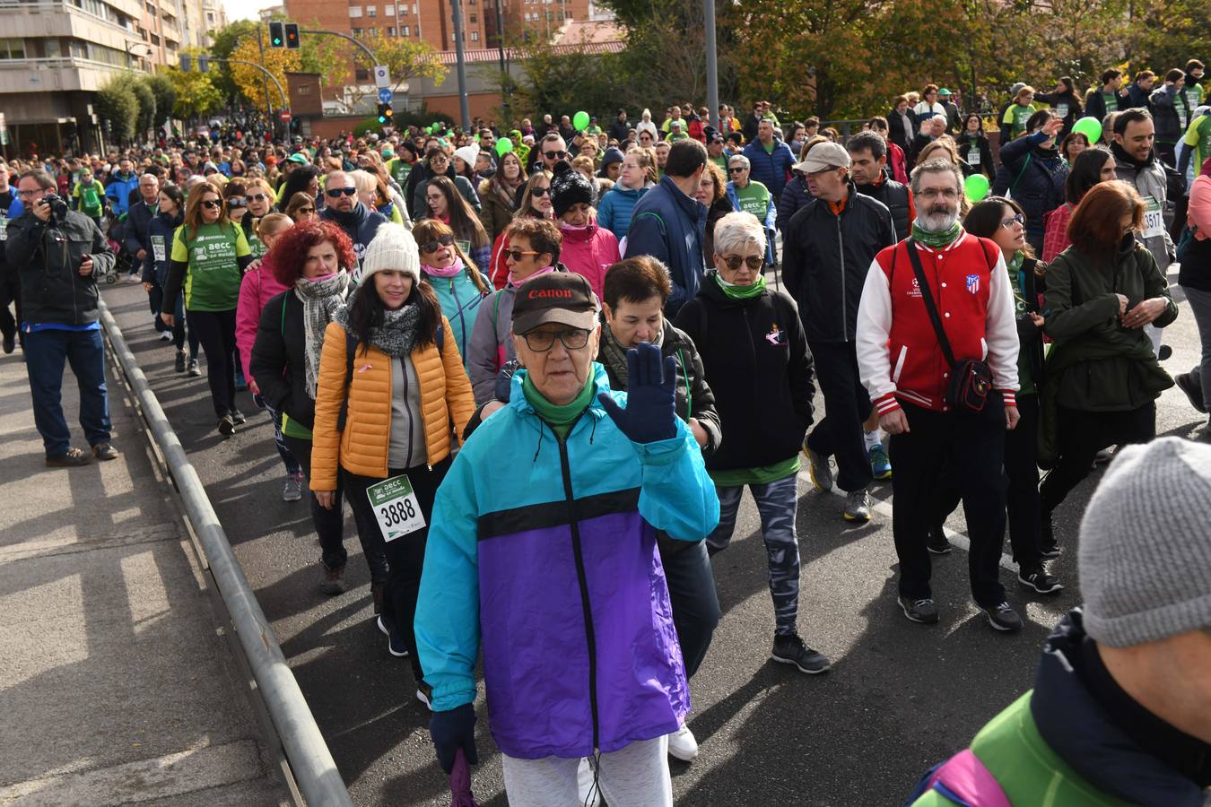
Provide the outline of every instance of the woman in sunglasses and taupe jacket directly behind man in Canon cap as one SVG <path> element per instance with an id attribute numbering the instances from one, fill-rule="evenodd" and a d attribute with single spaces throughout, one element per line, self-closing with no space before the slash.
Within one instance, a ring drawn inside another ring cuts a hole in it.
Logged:
<path id="1" fill-rule="evenodd" d="M 551 219 L 518 217 L 503 235 L 509 267 L 505 287 L 480 304 L 466 348 L 466 374 L 477 404 L 494 398 L 497 374 L 506 362 L 516 358 L 511 323 L 517 289 L 533 277 L 568 271 L 559 263 L 563 235 Z"/>

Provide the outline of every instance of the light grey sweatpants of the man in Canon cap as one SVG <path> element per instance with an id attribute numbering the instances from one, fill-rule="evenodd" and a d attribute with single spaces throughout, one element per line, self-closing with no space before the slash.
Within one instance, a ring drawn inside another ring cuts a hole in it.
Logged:
<path id="1" fill-rule="evenodd" d="M 511 807 L 573 807 L 579 801 L 579 759 L 520 760 L 507 754 L 501 757 Z M 598 786 L 609 807 L 672 807 L 668 738 L 636 740 L 613 754 L 602 754 Z"/>

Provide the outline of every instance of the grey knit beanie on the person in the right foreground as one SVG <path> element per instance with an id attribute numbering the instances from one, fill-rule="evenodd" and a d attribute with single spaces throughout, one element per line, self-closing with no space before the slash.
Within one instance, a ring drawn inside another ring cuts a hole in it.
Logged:
<path id="1" fill-rule="evenodd" d="M 1114 456 L 1080 523 L 1085 629 L 1130 647 L 1211 627 L 1211 445 L 1176 437 Z"/>

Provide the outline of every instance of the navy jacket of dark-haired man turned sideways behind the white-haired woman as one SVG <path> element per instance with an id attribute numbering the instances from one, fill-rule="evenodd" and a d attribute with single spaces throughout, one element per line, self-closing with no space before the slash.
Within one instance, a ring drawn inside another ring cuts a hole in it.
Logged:
<path id="1" fill-rule="evenodd" d="M 665 301 L 665 316 L 676 316 L 698 294 L 706 271 L 705 238 L 706 206 L 683 194 L 672 177 L 661 177 L 636 202 L 625 258 L 650 255 L 668 267 L 673 292 Z"/>

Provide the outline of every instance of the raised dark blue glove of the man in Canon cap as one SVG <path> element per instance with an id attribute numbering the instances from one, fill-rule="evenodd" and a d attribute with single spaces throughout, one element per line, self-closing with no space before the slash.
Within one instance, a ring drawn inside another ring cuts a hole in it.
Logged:
<path id="1" fill-rule="evenodd" d="M 677 359 L 660 359 L 649 342 L 626 351 L 626 409 L 602 392 L 597 396 L 619 431 L 632 443 L 655 443 L 677 437 Z"/>

